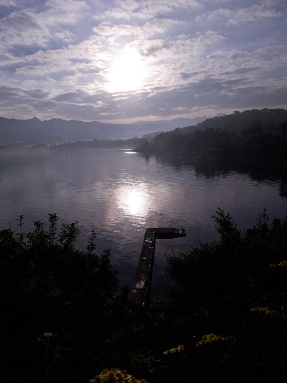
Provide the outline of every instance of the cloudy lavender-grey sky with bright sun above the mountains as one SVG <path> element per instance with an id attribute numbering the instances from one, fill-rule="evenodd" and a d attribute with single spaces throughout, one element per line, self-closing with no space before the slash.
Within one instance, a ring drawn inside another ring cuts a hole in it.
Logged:
<path id="1" fill-rule="evenodd" d="M 0 0 L 0 116 L 287 108 L 287 0 Z"/>

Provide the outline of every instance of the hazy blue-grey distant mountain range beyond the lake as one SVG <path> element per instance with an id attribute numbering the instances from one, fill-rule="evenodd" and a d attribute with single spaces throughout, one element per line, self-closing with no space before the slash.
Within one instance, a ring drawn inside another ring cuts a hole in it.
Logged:
<path id="1" fill-rule="evenodd" d="M 168 131 L 204 121 L 197 118 L 176 118 L 170 121 L 138 121 L 135 124 L 106 124 L 98 121 L 84 122 L 52 118 L 41 121 L 0 117 L 0 145 L 13 142 L 57 143 L 98 139 L 125 139 L 142 137 L 154 131 Z"/>

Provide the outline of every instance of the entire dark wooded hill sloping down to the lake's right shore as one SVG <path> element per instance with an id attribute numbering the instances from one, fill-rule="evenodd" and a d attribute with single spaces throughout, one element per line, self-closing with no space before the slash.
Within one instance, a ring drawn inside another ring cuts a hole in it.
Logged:
<path id="1" fill-rule="evenodd" d="M 263 109 L 210 118 L 138 142 L 135 151 L 204 158 L 224 163 L 286 164 L 287 110 Z"/>

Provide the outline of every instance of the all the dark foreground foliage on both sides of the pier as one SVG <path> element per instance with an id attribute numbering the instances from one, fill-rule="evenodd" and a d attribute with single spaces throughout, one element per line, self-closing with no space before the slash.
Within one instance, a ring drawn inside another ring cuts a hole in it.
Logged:
<path id="1" fill-rule="evenodd" d="M 76 223 L 57 235 L 50 214 L 48 231 L 41 222 L 27 235 L 3 230 L 3 373 L 88 383 L 117 367 L 150 383 L 286 382 L 287 221 L 272 230 L 263 211 L 246 237 L 224 211 L 214 219 L 220 240 L 168 256 L 178 288 L 136 317 L 116 294 L 109 250 L 96 256 L 94 235 L 75 250 Z"/>

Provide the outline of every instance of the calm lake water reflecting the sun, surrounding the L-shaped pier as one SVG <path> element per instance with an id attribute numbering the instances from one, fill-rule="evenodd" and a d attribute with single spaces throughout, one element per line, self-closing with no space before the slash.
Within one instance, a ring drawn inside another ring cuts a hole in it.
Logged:
<path id="1" fill-rule="evenodd" d="M 119 278 L 131 284 L 148 227 L 186 229 L 186 237 L 159 240 L 152 297 L 162 296 L 167 281 L 164 253 L 175 253 L 217 238 L 211 218 L 218 206 L 229 211 L 240 229 L 252 228 L 267 208 L 272 218 L 287 214 L 286 184 L 280 175 L 222 170 L 193 159 L 158 159 L 125 150 L 86 149 L 59 152 L 0 153 L 0 229 L 24 214 L 23 229 L 33 221 L 78 221 L 77 247 L 91 229 L 98 253 L 112 249 Z"/>

